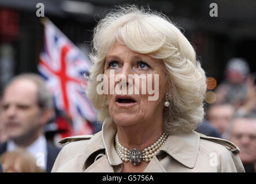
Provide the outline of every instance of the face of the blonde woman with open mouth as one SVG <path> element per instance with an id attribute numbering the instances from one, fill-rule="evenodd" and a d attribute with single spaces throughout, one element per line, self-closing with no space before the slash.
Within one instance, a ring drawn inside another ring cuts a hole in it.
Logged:
<path id="1" fill-rule="evenodd" d="M 104 74 L 109 86 L 107 100 L 110 116 L 117 125 L 131 126 L 143 122 L 150 124 L 162 120 L 166 79 L 160 60 L 133 52 L 116 42 L 106 56 Z M 135 74 L 144 75 L 145 78 L 139 79 L 138 83 Z M 117 76 L 120 78 L 117 79 Z M 120 89 L 119 92 L 117 89 Z"/>

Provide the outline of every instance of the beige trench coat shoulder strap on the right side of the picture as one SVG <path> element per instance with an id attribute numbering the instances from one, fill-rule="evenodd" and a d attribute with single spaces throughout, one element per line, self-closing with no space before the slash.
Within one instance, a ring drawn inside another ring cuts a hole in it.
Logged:
<path id="1" fill-rule="evenodd" d="M 240 153 L 239 148 L 234 143 L 232 143 L 231 141 L 228 141 L 228 140 L 225 140 L 225 139 L 220 139 L 220 138 L 217 138 L 217 137 L 209 137 L 209 136 L 206 136 L 202 133 L 199 133 L 199 135 L 200 135 L 201 139 L 206 139 L 206 140 L 213 141 L 215 143 L 224 145 L 225 148 L 232 151 L 234 154 L 239 154 Z"/>

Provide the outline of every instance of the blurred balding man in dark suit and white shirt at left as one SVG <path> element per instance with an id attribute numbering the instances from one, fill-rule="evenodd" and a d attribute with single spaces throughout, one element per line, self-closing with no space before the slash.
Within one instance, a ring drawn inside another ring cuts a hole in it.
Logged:
<path id="1" fill-rule="evenodd" d="M 53 116 L 53 101 L 43 79 L 37 74 L 16 76 L 3 91 L 2 122 L 9 139 L 0 145 L 0 155 L 26 148 L 50 172 L 60 148 L 47 142 L 43 127 Z"/>

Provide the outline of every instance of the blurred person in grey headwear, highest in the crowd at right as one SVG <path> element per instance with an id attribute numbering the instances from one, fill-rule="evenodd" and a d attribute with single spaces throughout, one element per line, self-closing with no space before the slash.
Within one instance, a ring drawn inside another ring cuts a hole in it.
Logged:
<path id="1" fill-rule="evenodd" d="M 241 106 L 247 96 L 246 81 L 250 74 L 248 63 L 243 58 L 232 58 L 225 69 L 225 81 L 217 86 L 216 104 L 232 104 L 235 109 Z"/>

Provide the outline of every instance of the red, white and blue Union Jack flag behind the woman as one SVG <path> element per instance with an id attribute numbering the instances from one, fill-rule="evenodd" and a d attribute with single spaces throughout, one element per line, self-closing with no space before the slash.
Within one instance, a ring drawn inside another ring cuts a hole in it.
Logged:
<path id="1" fill-rule="evenodd" d="M 84 92 L 84 74 L 88 74 L 92 63 L 50 20 L 43 24 L 39 74 L 46 79 L 55 107 L 72 118 L 73 135 L 91 134 L 94 130 L 88 121 L 97 121 L 97 115 Z"/>

